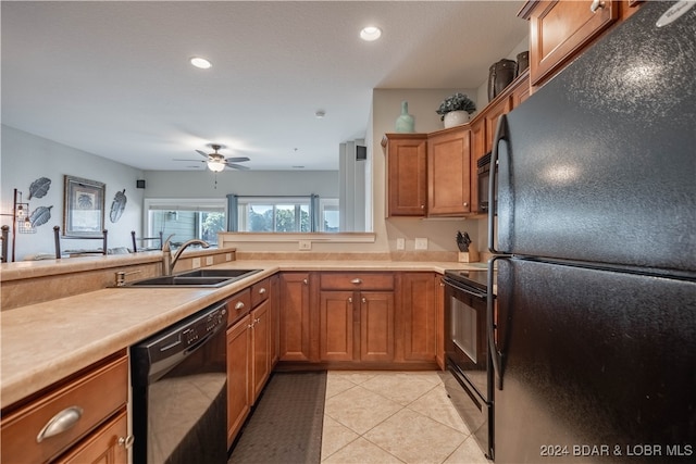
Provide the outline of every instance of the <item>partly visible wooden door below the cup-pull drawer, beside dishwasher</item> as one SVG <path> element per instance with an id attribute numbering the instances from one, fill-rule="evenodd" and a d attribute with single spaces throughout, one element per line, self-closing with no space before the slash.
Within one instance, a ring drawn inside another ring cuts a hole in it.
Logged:
<path id="1" fill-rule="evenodd" d="M 126 410 L 102 424 L 97 430 L 61 456 L 57 464 L 126 464 L 128 450 Z"/>

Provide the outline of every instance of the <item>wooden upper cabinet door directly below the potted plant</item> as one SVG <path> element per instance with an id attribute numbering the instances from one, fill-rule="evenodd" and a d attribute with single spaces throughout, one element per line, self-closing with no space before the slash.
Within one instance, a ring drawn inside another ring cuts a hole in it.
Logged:
<path id="1" fill-rule="evenodd" d="M 427 215 L 471 213 L 469 127 L 437 133 L 427 140 Z"/>

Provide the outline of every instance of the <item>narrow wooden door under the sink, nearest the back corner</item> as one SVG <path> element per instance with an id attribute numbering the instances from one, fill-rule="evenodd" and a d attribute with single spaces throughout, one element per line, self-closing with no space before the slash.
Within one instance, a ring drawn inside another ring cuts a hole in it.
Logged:
<path id="1" fill-rule="evenodd" d="M 251 404 L 254 404 L 271 374 L 271 302 L 264 300 L 251 311 Z"/>

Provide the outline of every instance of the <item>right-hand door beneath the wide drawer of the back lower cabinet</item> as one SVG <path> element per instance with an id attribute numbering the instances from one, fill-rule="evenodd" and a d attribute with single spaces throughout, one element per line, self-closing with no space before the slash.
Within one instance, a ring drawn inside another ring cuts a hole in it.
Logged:
<path id="1" fill-rule="evenodd" d="M 360 361 L 394 361 L 394 292 L 361 291 Z"/>

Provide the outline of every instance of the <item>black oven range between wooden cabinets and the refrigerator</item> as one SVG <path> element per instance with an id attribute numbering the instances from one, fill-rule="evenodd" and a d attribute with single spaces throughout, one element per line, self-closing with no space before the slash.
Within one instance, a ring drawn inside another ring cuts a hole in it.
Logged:
<path id="1" fill-rule="evenodd" d="M 445 271 L 447 394 L 482 451 L 493 459 L 493 366 L 488 354 L 488 272 Z"/>

